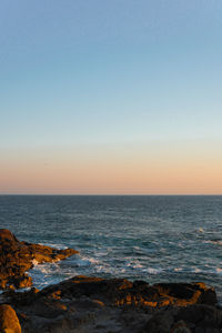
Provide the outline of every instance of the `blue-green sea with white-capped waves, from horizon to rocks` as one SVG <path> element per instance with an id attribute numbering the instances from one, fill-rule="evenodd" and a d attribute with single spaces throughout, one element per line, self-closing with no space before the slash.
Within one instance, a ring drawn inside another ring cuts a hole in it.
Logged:
<path id="1" fill-rule="evenodd" d="M 0 228 L 80 251 L 37 264 L 37 287 L 77 274 L 202 281 L 222 295 L 222 196 L 0 195 Z"/>

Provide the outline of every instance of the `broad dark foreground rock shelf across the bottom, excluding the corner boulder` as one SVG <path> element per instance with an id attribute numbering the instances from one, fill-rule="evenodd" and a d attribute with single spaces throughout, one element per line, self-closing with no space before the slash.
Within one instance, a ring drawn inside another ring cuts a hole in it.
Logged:
<path id="1" fill-rule="evenodd" d="M 42 291 L 4 292 L 1 302 L 16 310 L 24 333 L 219 333 L 222 327 L 215 292 L 203 283 L 74 276 Z"/>

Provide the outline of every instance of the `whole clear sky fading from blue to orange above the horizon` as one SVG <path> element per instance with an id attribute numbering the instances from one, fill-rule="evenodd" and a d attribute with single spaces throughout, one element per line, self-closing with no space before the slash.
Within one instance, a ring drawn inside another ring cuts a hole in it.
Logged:
<path id="1" fill-rule="evenodd" d="M 1 194 L 222 194 L 221 0 L 1 0 Z"/>

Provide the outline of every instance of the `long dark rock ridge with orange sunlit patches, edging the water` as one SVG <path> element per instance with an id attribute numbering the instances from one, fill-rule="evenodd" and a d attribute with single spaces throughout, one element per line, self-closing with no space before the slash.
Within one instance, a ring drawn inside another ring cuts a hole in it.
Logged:
<path id="1" fill-rule="evenodd" d="M 163 287 L 164 286 L 164 287 Z M 125 279 L 100 279 L 75 276 L 41 291 L 40 295 L 60 299 L 70 296 L 97 297 L 108 305 L 133 305 L 162 307 L 191 304 L 215 304 L 213 289 L 204 283 L 169 283 L 149 285 L 143 281 L 131 282 Z"/>

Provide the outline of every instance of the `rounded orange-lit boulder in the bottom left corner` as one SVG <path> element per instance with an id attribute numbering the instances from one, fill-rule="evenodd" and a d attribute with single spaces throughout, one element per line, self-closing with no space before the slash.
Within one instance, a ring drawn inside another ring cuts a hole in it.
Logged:
<path id="1" fill-rule="evenodd" d="M 16 311 L 8 304 L 0 305 L 0 332 L 21 333 Z"/>

